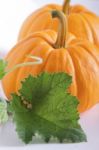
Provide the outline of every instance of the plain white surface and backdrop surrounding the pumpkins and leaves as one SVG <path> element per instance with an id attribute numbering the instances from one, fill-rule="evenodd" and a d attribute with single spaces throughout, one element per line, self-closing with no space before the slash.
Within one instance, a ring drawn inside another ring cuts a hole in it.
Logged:
<path id="1" fill-rule="evenodd" d="M 0 56 L 16 43 L 17 34 L 26 16 L 34 9 L 47 1 L 53 0 L 0 0 Z M 63 0 L 56 0 L 62 3 Z M 55 0 L 54 0 L 55 2 Z M 99 1 L 97 0 L 72 0 L 79 2 L 91 10 L 98 12 Z M 0 90 L 1 91 L 1 90 Z M 34 144 L 23 146 L 18 139 L 14 126 L 11 122 L 0 126 L 0 150 L 24 149 L 24 150 L 99 150 L 99 105 L 81 115 L 80 123 L 88 137 L 87 143 L 80 144 Z"/>

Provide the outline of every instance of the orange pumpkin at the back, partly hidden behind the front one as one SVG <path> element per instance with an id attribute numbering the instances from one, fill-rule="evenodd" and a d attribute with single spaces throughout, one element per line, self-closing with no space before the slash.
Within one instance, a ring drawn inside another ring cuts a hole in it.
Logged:
<path id="1" fill-rule="evenodd" d="M 76 37 L 87 39 L 99 46 L 99 18 L 85 7 L 70 7 L 70 0 L 64 0 L 63 7 L 51 4 L 33 12 L 23 23 L 18 40 L 44 29 L 58 30 L 58 20 L 52 19 L 50 11 L 61 10 L 68 15 L 68 30 Z"/>

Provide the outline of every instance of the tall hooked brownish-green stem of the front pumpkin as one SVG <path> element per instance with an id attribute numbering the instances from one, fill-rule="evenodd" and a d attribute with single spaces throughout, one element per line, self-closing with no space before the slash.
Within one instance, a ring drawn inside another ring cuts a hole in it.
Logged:
<path id="1" fill-rule="evenodd" d="M 67 31 L 68 31 L 68 25 L 66 16 L 63 12 L 54 10 L 52 11 L 52 17 L 58 18 L 60 21 L 59 29 L 58 29 L 58 36 L 57 40 L 54 44 L 55 48 L 66 48 L 66 39 L 67 39 Z"/>

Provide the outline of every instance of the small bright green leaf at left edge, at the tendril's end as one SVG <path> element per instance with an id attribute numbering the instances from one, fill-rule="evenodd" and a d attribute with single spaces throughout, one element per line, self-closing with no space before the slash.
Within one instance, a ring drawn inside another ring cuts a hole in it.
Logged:
<path id="1" fill-rule="evenodd" d="M 0 59 L 0 80 L 6 74 L 6 71 L 5 71 L 6 66 L 7 66 L 7 62 L 5 62 L 3 59 Z"/>

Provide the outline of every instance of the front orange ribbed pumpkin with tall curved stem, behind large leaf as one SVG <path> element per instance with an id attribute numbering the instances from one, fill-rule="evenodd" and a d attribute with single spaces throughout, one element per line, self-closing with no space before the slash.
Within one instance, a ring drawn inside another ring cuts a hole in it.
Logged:
<path id="1" fill-rule="evenodd" d="M 31 34 L 6 56 L 8 70 L 22 62 L 33 62 L 27 55 L 40 57 L 43 63 L 21 67 L 6 75 L 3 79 L 4 92 L 10 98 L 29 74 L 66 72 L 73 79 L 69 91 L 79 98 L 78 110 L 84 112 L 99 102 L 99 49 L 89 41 L 69 34 L 66 17 L 61 11 L 52 11 L 52 17 L 60 21 L 58 34 L 53 30 Z"/>

